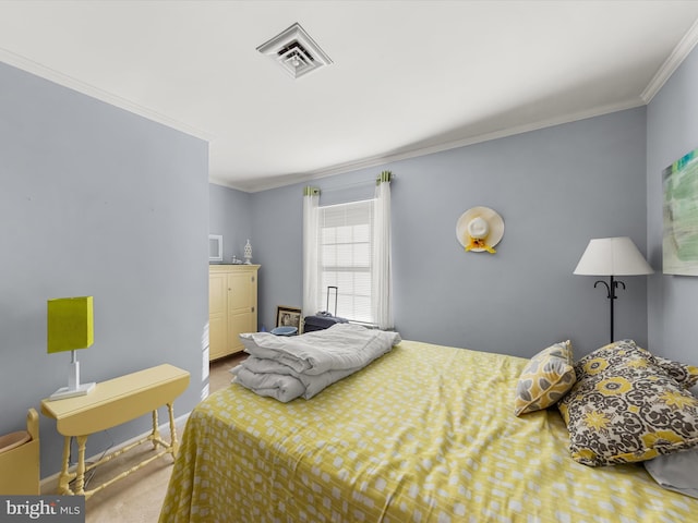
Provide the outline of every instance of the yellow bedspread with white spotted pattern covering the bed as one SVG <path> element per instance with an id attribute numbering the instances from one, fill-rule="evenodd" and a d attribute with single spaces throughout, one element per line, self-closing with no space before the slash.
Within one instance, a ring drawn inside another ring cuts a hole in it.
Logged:
<path id="1" fill-rule="evenodd" d="M 639 465 L 575 463 L 556 410 L 516 417 L 526 363 L 402 341 L 309 401 L 231 385 L 192 412 L 160 522 L 696 521 Z"/>

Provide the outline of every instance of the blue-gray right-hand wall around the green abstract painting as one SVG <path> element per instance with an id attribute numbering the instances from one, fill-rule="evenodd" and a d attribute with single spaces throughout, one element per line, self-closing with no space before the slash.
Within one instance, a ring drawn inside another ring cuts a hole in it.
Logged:
<path id="1" fill-rule="evenodd" d="M 647 238 L 658 272 L 648 293 L 651 350 L 698 363 L 698 278 L 664 276 L 662 264 L 662 170 L 698 147 L 698 49 L 652 99 L 647 111 Z"/>

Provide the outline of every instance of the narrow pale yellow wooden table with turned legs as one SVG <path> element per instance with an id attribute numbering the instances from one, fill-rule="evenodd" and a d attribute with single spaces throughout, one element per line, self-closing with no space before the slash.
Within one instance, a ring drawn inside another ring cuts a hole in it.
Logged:
<path id="1" fill-rule="evenodd" d="M 83 495 L 87 499 L 113 482 L 147 465 L 160 455 L 170 453 L 174 458 L 179 442 L 177 441 L 177 431 L 174 429 L 173 402 L 174 398 L 184 392 L 188 386 L 189 373 L 186 370 L 165 364 L 99 382 L 86 396 L 63 400 L 43 400 L 41 412 L 56 419 L 58 431 L 65 437 L 63 465 L 58 481 L 58 494 Z M 167 405 L 169 411 L 169 443 L 160 438 L 158 431 L 157 409 L 163 405 Z M 148 436 L 104 455 L 98 461 L 85 466 L 87 436 L 135 419 L 148 412 L 153 413 L 153 430 Z M 77 440 L 77 465 L 74 472 L 70 471 L 71 437 L 75 437 Z M 122 472 L 108 482 L 91 490 L 85 490 L 86 472 L 147 441 L 153 442 L 155 450 L 157 450 L 158 446 L 163 447 L 163 450 L 144 459 L 136 466 Z M 75 485 L 71 489 L 70 482 L 73 479 L 75 479 Z"/>

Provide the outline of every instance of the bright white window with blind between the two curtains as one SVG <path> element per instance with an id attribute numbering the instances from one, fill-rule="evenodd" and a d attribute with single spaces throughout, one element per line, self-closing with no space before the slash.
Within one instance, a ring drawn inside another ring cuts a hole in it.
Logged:
<path id="1" fill-rule="evenodd" d="M 320 207 L 318 303 L 326 305 L 327 288 L 338 288 L 337 316 L 375 323 L 371 312 L 373 200 Z M 329 312 L 335 309 L 334 291 Z"/>

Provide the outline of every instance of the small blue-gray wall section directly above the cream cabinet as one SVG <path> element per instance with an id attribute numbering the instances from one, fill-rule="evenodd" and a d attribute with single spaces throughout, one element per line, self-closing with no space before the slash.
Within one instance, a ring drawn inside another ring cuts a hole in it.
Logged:
<path id="1" fill-rule="evenodd" d="M 252 244 L 254 257 L 254 241 L 251 238 L 251 195 L 213 183 L 208 186 L 208 230 L 210 234 L 222 235 L 222 263 L 230 264 L 233 255 L 242 258 L 248 239 Z"/>

